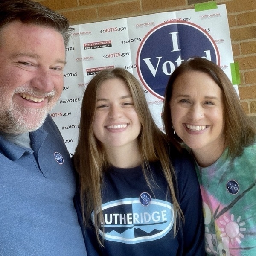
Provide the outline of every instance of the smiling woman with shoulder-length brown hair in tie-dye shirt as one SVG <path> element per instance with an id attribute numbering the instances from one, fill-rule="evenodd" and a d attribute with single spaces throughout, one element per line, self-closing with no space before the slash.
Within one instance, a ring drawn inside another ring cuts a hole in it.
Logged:
<path id="1" fill-rule="evenodd" d="M 189 148 L 204 205 L 209 255 L 256 255 L 256 129 L 221 68 L 195 58 L 170 76 L 166 134 Z"/>

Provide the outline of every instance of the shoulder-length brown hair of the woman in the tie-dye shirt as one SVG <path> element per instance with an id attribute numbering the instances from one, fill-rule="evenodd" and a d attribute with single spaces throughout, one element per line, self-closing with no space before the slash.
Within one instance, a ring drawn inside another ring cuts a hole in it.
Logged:
<path id="1" fill-rule="evenodd" d="M 175 134 L 172 127 L 170 101 L 172 98 L 172 87 L 175 79 L 177 79 L 178 76 L 185 75 L 185 73 L 189 71 L 200 71 L 206 73 L 221 88 L 224 104 L 224 133 L 226 143 L 229 155 L 231 157 L 236 157 L 241 154 L 244 147 L 254 143 L 256 128 L 250 118 L 246 116 L 230 79 L 221 67 L 204 58 L 192 58 L 189 61 L 184 61 L 174 70 L 169 78 L 163 105 L 163 126 L 169 140 L 171 140 L 178 149 L 181 148 L 180 143 L 183 141 L 177 136 L 177 134 Z"/>

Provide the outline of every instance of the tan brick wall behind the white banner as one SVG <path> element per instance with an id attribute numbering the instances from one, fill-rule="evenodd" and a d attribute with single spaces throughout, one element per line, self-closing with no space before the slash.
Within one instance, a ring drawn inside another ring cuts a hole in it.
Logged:
<path id="1" fill-rule="evenodd" d="M 35 0 L 65 15 L 73 25 L 194 8 L 207 0 Z M 216 0 L 226 4 L 234 60 L 239 63 L 239 94 L 247 115 L 256 122 L 256 3 Z"/>

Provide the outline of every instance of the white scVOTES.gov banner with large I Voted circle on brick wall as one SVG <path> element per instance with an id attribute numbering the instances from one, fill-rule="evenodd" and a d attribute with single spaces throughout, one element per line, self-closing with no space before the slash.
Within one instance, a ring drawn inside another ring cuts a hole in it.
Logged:
<path id="1" fill-rule="evenodd" d="M 163 93 L 170 74 L 183 60 L 199 56 L 224 70 L 231 80 L 233 54 L 225 5 L 163 12 L 73 26 L 66 48 L 64 89 L 51 116 L 74 154 L 81 100 L 94 74 L 122 67 L 141 81 L 151 113 L 162 129 Z M 236 87 L 237 89 L 237 87 Z"/>

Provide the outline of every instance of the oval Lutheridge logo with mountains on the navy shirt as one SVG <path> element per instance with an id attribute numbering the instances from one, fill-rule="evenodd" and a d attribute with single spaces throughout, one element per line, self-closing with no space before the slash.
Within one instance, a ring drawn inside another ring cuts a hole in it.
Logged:
<path id="1" fill-rule="evenodd" d="M 173 205 L 159 199 L 150 201 L 148 206 L 141 204 L 139 198 L 124 198 L 102 204 L 104 219 L 99 234 L 105 240 L 125 244 L 154 241 L 166 236 L 174 223 Z M 94 214 L 93 211 L 92 221 Z"/>

